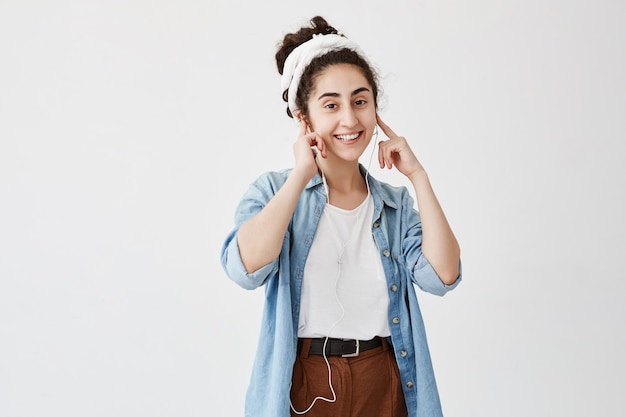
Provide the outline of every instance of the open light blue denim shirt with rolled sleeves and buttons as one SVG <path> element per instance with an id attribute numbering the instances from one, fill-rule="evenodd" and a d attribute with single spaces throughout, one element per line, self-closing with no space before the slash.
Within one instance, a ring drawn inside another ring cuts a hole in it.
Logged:
<path id="1" fill-rule="evenodd" d="M 361 172 L 365 169 L 361 166 Z M 281 253 L 247 273 L 239 256 L 237 230 L 256 215 L 285 183 L 290 170 L 261 175 L 235 213 L 235 228 L 224 242 L 221 262 L 227 275 L 245 289 L 265 285 L 261 334 L 246 396 L 247 417 L 289 417 L 289 393 L 298 340 L 302 276 L 324 209 L 326 194 L 319 175 L 300 195 Z M 389 327 L 410 417 L 441 416 L 441 404 L 428 351 L 415 287 L 444 295 L 461 280 L 445 285 L 422 255 L 419 213 L 405 187 L 368 176 L 374 198 L 372 234 L 382 259 L 389 292 Z"/>

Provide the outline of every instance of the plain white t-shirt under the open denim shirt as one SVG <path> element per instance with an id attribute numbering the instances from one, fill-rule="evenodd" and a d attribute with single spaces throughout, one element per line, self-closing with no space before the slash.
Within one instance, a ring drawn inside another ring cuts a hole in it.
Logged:
<path id="1" fill-rule="evenodd" d="M 372 235 L 374 199 L 354 210 L 326 204 L 304 267 L 298 337 L 391 335 L 389 295 Z"/>

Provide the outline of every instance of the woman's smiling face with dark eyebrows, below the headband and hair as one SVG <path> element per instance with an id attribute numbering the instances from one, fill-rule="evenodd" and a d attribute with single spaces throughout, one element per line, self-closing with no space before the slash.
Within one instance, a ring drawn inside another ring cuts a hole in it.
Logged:
<path id="1" fill-rule="evenodd" d="M 330 157 L 358 161 L 376 125 L 372 86 L 352 64 L 337 64 L 315 77 L 306 120 Z"/>

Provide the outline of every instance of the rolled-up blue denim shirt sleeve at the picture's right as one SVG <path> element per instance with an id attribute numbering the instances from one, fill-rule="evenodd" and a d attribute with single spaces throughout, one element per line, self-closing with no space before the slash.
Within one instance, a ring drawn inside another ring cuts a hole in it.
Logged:
<path id="1" fill-rule="evenodd" d="M 443 296 L 453 290 L 461 282 L 461 263 L 459 261 L 459 276 L 450 285 L 441 281 L 437 272 L 422 253 L 422 222 L 419 213 L 413 206 L 413 198 L 406 193 L 403 199 L 406 226 L 406 235 L 403 240 L 403 253 L 409 270 L 413 271 L 412 280 L 422 290 L 431 294 Z"/>

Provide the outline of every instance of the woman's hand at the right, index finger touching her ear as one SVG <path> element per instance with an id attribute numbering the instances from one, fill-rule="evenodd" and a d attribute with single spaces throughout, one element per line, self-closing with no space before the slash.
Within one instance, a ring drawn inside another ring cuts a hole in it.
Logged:
<path id="1" fill-rule="evenodd" d="M 398 171 L 407 177 L 423 171 L 424 167 L 422 167 L 422 164 L 417 160 L 406 138 L 396 135 L 396 133 L 382 121 L 379 115 L 376 115 L 376 121 L 383 133 L 389 138 L 389 140 L 380 141 L 378 143 L 378 162 L 380 163 L 380 167 L 391 169 L 395 166 Z"/>

